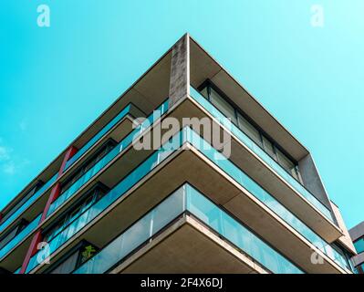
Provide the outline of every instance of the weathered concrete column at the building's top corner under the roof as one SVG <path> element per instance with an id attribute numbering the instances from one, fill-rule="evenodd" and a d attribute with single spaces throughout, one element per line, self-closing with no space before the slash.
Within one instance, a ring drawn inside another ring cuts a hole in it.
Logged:
<path id="1" fill-rule="evenodd" d="M 170 104 L 190 93 L 190 36 L 185 34 L 172 47 Z"/>

